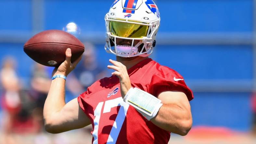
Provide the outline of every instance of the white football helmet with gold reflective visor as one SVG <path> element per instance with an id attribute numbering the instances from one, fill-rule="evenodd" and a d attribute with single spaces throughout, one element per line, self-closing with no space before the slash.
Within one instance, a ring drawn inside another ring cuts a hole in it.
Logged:
<path id="1" fill-rule="evenodd" d="M 153 0 L 115 0 L 105 23 L 108 53 L 146 57 L 156 44 L 160 13 Z"/>

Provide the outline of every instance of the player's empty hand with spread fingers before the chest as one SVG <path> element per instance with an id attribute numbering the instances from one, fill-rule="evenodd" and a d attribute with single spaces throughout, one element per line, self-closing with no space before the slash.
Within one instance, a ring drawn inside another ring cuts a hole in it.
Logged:
<path id="1" fill-rule="evenodd" d="M 115 72 L 112 72 L 112 75 L 118 76 L 120 80 L 120 89 L 121 89 L 121 94 L 122 98 L 126 95 L 128 90 L 132 88 L 131 81 L 129 78 L 129 75 L 127 73 L 126 66 L 124 66 L 122 63 L 114 61 L 114 60 L 109 60 L 110 63 L 112 63 L 114 66 L 108 66 L 108 68 L 114 69 Z"/>

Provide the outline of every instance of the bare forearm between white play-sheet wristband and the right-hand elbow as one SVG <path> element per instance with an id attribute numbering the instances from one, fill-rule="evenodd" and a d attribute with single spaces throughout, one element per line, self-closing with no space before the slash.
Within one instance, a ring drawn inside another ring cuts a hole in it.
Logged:
<path id="1" fill-rule="evenodd" d="M 190 110 L 176 104 L 163 104 L 151 122 L 164 130 L 185 136 L 191 129 L 192 116 Z"/>

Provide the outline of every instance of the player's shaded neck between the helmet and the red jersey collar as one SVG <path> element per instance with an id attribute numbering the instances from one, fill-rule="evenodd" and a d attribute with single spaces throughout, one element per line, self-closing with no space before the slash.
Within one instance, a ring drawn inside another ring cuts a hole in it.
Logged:
<path id="1" fill-rule="evenodd" d="M 126 66 L 127 69 L 133 67 L 134 65 L 136 65 L 137 63 L 147 59 L 148 57 L 141 57 L 141 56 L 135 56 L 135 57 L 120 57 L 117 56 L 116 60 L 118 62 L 121 62 L 124 66 Z"/>

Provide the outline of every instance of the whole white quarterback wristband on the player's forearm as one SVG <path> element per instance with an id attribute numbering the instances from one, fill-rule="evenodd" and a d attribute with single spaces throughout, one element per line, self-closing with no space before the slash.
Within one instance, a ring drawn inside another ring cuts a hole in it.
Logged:
<path id="1" fill-rule="evenodd" d="M 161 100 L 138 88 L 131 88 L 123 101 L 136 108 L 147 120 L 155 117 L 163 105 Z"/>

